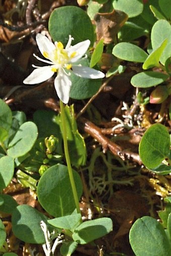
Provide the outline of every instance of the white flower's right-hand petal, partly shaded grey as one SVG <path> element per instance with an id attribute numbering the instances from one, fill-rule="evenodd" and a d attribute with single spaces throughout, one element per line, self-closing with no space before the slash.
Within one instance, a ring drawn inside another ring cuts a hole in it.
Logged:
<path id="1" fill-rule="evenodd" d="M 72 66 L 72 71 L 77 76 L 85 77 L 85 78 L 97 79 L 97 78 L 105 77 L 105 74 L 103 72 L 96 70 L 94 68 L 85 67 L 85 66 Z"/>

